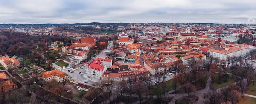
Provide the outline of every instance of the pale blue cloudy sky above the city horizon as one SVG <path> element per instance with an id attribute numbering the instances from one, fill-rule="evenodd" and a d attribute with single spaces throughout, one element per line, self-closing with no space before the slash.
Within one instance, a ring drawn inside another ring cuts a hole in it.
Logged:
<path id="1" fill-rule="evenodd" d="M 0 23 L 227 24 L 255 20 L 256 0 L 0 0 Z"/>

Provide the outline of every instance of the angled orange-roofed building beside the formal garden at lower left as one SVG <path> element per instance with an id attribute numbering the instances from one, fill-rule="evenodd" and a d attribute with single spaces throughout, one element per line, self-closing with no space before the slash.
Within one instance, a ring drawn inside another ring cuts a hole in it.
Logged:
<path id="1" fill-rule="evenodd" d="M 67 78 L 67 74 L 57 69 L 46 71 L 38 75 L 38 79 L 43 79 L 46 82 L 51 82 L 52 80 L 63 82 L 66 78 Z"/>

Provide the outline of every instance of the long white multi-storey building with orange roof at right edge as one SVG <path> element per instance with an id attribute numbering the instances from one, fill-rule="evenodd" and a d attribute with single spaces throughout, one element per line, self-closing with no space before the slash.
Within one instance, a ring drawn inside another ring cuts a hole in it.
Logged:
<path id="1" fill-rule="evenodd" d="M 208 52 L 210 57 L 219 58 L 220 60 L 226 60 L 227 57 L 243 57 L 247 55 L 250 51 L 256 49 L 255 46 L 251 45 L 241 45 L 241 47 L 224 47 L 225 51 L 209 49 Z"/>

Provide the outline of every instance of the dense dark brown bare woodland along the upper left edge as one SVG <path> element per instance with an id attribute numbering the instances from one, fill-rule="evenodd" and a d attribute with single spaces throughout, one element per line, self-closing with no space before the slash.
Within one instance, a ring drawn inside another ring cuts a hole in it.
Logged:
<path id="1" fill-rule="evenodd" d="M 44 51 L 46 44 L 54 41 L 63 41 L 64 45 L 70 43 L 70 39 L 65 36 L 29 36 L 5 30 L 0 32 L 0 55 L 27 55 L 37 47 Z"/>

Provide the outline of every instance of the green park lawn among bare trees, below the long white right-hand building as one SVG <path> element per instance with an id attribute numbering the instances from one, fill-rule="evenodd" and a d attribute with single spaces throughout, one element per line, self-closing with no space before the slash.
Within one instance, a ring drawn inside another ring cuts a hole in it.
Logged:
<path id="1" fill-rule="evenodd" d="M 222 88 L 224 86 L 227 86 L 229 83 L 234 83 L 235 82 L 234 79 L 232 79 L 231 75 L 229 75 L 229 77 L 227 78 L 227 82 L 224 82 L 224 79 L 222 78 L 221 83 L 218 84 L 218 80 L 219 80 L 219 78 L 215 77 L 214 82 L 212 83 L 212 85 L 214 86 L 215 89 Z"/>

